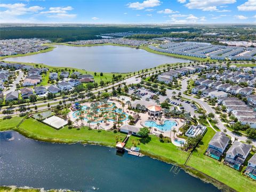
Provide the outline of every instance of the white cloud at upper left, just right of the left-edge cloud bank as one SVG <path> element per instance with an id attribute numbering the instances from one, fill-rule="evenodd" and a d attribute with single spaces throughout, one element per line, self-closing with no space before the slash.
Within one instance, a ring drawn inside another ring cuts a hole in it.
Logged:
<path id="1" fill-rule="evenodd" d="M 49 18 L 75 18 L 76 14 L 70 14 L 68 11 L 73 10 L 73 7 L 50 7 L 48 11 L 42 11 L 40 14 L 46 15 Z"/>

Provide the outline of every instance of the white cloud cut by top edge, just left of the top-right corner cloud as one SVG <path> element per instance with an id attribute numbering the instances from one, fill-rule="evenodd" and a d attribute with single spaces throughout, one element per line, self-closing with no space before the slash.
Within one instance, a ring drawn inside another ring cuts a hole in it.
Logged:
<path id="1" fill-rule="evenodd" d="M 219 11 L 218 6 L 236 3 L 236 0 L 189 0 L 185 5 L 188 9 L 203 11 Z"/>

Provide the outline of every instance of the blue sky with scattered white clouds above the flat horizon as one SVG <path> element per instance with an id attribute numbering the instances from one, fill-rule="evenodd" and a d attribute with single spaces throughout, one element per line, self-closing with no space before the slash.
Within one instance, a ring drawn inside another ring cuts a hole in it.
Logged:
<path id="1" fill-rule="evenodd" d="M 256 24 L 256 0 L 1 0 L 0 11 L 2 23 Z"/>

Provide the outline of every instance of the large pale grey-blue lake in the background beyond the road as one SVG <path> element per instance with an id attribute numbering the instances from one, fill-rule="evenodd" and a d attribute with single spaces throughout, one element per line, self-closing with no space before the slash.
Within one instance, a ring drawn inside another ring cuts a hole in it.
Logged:
<path id="1" fill-rule="evenodd" d="M 6 61 L 44 63 L 57 67 L 74 67 L 97 72 L 133 72 L 165 63 L 189 62 L 142 49 L 125 46 L 65 46 L 53 51 L 25 57 L 7 58 Z"/>

